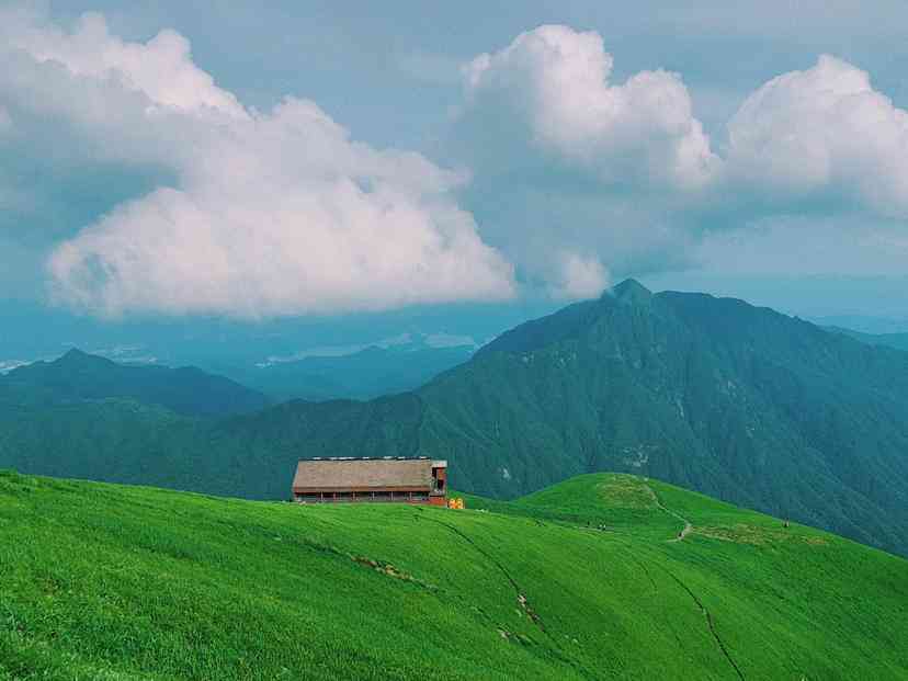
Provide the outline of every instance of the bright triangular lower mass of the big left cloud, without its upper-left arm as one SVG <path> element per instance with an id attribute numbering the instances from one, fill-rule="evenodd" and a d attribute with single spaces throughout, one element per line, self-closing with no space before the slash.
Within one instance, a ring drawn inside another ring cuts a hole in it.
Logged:
<path id="1" fill-rule="evenodd" d="M 511 266 L 412 154 L 351 143 L 310 102 L 229 128 L 160 189 L 50 260 L 60 297 L 124 310 L 241 317 L 498 299 Z"/>

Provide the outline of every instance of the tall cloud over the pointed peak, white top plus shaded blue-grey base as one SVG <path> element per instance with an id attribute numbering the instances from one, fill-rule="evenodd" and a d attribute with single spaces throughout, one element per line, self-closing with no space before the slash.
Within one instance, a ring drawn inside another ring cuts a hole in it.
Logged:
<path id="1" fill-rule="evenodd" d="M 475 173 L 467 205 L 523 280 L 557 298 L 677 261 L 684 238 L 665 215 L 722 172 L 679 76 L 615 83 L 612 71 L 599 34 L 557 25 L 464 67 L 451 147 Z"/>

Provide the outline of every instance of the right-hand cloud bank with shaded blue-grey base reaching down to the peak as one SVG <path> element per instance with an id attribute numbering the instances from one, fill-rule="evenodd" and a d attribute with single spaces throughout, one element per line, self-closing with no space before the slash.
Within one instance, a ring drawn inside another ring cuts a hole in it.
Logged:
<path id="1" fill-rule="evenodd" d="M 908 216 L 908 112 L 845 61 L 821 56 L 767 82 L 717 144 L 680 76 L 612 72 L 602 38 L 567 26 L 464 68 L 452 148 L 475 173 L 466 205 L 553 295 L 592 293 L 608 280 L 594 265 L 695 266 L 704 240 L 793 214 L 865 216 L 855 229 Z"/>

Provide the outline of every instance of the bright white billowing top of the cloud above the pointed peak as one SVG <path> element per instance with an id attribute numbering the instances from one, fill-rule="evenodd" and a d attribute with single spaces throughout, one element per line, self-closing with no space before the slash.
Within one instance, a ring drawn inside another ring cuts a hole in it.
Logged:
<path id="1" fill-rule="evenodd" d="M 540 26 L 465 67 L 463 115 L 491 117 L 496 135 L 523 136 L 604 183 L 708 182 L 718 159 L 681 78 L 642 71 L 612 84 L 612 67 L 598 33 Z"/>

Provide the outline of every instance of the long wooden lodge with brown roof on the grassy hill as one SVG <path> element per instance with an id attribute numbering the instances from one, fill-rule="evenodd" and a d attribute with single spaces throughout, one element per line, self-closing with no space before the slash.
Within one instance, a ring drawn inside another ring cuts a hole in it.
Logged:
<path id="1" fill-rule="evenodd" d="M 296 466 L 299 503 L 381 502 L 447 504 L 447 462 L 419 457 L 307 458 Z"/>

